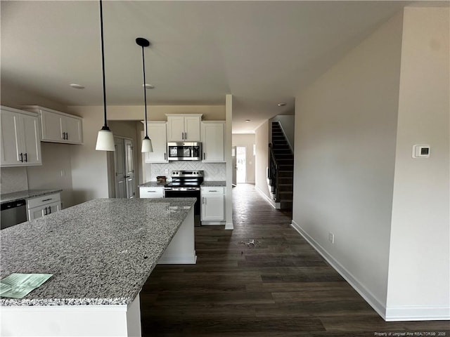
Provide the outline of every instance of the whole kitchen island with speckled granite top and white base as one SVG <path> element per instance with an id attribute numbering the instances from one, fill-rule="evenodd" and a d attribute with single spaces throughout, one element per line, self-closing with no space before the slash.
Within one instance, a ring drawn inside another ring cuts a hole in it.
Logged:
<path id="1" fill-rule="evenodd" d="M 140 336 L 157 263 L 195 263 L 194 198 L 95 199 L 0 232 L 1 278 L 53 274 L 0 298 L 1 336 Z"/>

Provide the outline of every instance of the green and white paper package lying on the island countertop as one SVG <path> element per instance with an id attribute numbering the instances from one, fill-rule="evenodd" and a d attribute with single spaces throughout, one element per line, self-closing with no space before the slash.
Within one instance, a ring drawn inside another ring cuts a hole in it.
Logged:
<path id="1" fill-rule="evenodd" d="M 0 296 L 23 298 L 53 274 L 11 274 L 0 280 Z"/>

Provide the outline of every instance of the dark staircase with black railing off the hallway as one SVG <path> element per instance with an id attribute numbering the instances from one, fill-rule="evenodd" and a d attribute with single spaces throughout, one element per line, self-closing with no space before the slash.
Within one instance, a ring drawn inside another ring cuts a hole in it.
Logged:
<path id="1" fill-rule="evenodd" d="M 269 144 L 267 183 L 271 197 L 279 209 L 293 207 L 294 154 L 278 121 L 272 122 L 272 143 Z"/>

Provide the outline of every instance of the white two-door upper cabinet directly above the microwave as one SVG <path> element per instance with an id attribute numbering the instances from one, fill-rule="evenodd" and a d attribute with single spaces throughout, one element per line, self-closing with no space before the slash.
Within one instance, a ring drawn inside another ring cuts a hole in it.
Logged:
<path id="1" fill-rule="evenodd" d="M 200 141 L 202 114 L 167 114 L 167 142 Z"/>

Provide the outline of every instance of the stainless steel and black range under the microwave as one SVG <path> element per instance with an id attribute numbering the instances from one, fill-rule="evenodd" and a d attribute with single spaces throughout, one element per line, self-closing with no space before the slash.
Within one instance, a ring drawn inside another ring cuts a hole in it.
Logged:
<path id="1" fill-rule="evenodd" d="M 172 171 L 172 182 L 164 185 L 166 198 L 197 198 L 194 205 L 194 224 L 200 226 L 200 185 L 203 171 Z"/>

